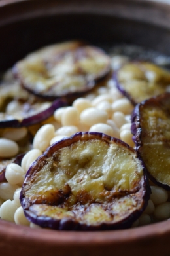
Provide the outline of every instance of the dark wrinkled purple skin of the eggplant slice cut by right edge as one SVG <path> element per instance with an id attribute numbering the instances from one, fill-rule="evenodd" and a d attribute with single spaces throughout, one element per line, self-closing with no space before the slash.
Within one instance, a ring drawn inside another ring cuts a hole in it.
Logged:
<path id="1" fill-rule="evenodd" d="M 143 132 L 143 126 L 141 126 L 141 119 L 142 119 L 142 109 L 145 105 L 151 105 L 154 107 L 160 107 L 163 108 L 165 110 L 165 112 L 167 113 L 167 115 L 169 115 L 169 109 L 170 107 L 165 106 L 165 101 L 168 100 L 170 101 L 170 93 L 165 93 L 165 94 L 161 94 L 160 96 L 154 96 L 148 100 L 144 100 L 141 103 L 138 103 L 135 108 L 133 109 L 133 113 L 131 114 L 131 133 L 133 134 L 133 141 L 135 142 L 135 150 L 137 151 L 137 154 L 139 156 L 139 158 L 143 161 L 143 166 L 146 169 L 148 178 L 156 185 L 163 187 L 163 189 L 170 191 L 170 185 L 167 185 L 166 183 L 162 183 L 160 182 L 158 179 L 156 179 L 156 177 L 154 177 L 149 168 L 147 168 L 146 164 L 146 159 L 142 156 L 143 153 L 143 146 L 144 146 L 144 142 L 143 142 L 143 134 L 146 133 Z M 164 106 L 163 106 L 164 105 Z M 169 116 L 170 118 L 170 116 Z M 160 131 L 161 133 L 161 131 Z M 152 139 L 152 138 L 150 138 Z M 158 140 L 159 142 L 159 140 Z M 169 149 L 169 141 L 167 138 L 163 138 L 162 141 L 160 141 L 160 143 L 164 143 L 165 144 L 165 150 L 168 151 Z M 152 140 L 151 140 L 152 143 Z M 154 142 L 153 142 L 154 143 Z M 149 147 L 149 146 L 148 146 Z M 151 149 L 150 149 L 151 150 Z M 157 149 L 158 150 L 158 149 Z M 156 153 L 158 154 L 158 152 Z M 157 158 L 158 156 L 155 155 Z M 156 159 L 155 159 L 156 160 Z M 153 159 L 154 161 L 154 159 Z M 162 168 L 163 168 L 163 162 L 162 162 Z M 167 169 L 167 168 L 166 168 Z"/>

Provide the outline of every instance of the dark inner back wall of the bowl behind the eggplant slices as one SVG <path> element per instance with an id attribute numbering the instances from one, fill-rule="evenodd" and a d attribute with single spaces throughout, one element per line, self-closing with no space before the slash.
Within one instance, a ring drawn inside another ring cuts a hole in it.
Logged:
<path id="1" fill-rule="evenodd" d="M 1 71 L 41 46 L 72 39 L 103 47 L 135 44 L 170 54 L 168 29 L 101 14 L 54 15 L 0 24 L 0 35 Z"/>

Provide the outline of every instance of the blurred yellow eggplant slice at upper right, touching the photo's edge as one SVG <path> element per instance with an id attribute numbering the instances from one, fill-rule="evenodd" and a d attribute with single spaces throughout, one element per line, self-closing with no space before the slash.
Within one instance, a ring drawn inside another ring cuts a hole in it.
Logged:
<path id="1" fill-rule="evenodd" d="M 133 105 L 163 94 L 170 84 L 170 73 L 150 62 L 129 62 L 114 73 L 116 86 Z"/>

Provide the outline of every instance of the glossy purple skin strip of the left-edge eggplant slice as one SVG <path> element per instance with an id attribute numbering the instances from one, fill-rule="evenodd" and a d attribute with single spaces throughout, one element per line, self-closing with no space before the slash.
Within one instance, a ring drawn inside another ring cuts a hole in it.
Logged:
<path id="1" fill-rule="evenodd" d="M 20 120 L 1 120 L 0 121 L 0 128 L 20 128 L 20 127 L 27 127 L 31 126 L 33 124 L 38 124 L 39 122 L 42 122 L 48 117 L 51 117 L 56 109 L 59 107 L 65 107 L 68 103 L 66 100 L 55 100 L 52 102 L 52 105 L 48 107 L 48 109 L 45 109 L 41 113 L 37 113 L 35 115 L 32 115 L 31 117 L 25 117 L 22 121 Z"/>

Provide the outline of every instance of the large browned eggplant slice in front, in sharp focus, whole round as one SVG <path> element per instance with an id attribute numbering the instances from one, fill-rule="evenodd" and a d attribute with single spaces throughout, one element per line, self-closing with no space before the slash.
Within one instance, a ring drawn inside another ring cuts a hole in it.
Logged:
<path id="1" fill-rule="evenodd" d="M 29 221 L 57 230 L 131 227 L 150 187 L 136 151 L 97 132 L 50 146 L 29 168 L 20 201 Z"/>

